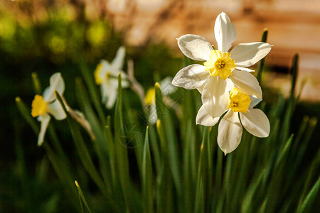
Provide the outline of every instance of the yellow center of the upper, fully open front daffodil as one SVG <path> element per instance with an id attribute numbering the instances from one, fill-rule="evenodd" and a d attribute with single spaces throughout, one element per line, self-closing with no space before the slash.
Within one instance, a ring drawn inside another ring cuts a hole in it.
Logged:
<path id="1" fill-rule="evenodd" d="M 229 75 L 233 74 L 235 69 L 235 60 L 230 58 L 230 53 L 221 53 L 220 50 L 212 50 L 210 59 L 203 63 L 206 70 L 210 72 L 211 76 L 219 76 L 226 80 Z"/>

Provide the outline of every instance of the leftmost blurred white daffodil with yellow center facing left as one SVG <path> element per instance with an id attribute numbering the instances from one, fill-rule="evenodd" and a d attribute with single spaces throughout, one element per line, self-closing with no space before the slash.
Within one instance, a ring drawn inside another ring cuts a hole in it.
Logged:
<path id="1" fill-rule="evenodd" d="M 33 117 L 38 117 L 38 121 L 41 121 L 38 146 L 41 146 L 43 143 L 46 129 L 48 128 L 51 119 L 50 115 L 57 120 L 63 120 L 67 116 L 58 100 L 55 99 L 55 91 L 60 95 L 63 95 L 63 92 L 65 92 L 65 83 L 63 82 L 60 72 L 57 72 L 50 77 L 50 86 L 45 89 L 42 96 L 36 94 L 32 102 L 31 115 Z"/>

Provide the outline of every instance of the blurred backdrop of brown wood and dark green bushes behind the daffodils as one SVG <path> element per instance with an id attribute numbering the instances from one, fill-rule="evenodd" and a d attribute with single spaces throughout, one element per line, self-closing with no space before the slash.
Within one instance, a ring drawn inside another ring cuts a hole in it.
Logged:
<path id="1" fill-rule="evenodd" d="M 73 91 L 74 79 L 80 76 L 79 59 L 83 58 L 93 73 L 100 59 L 112 60 L 117 48 L 125 45 L 127 59 L 134 60 L 137 80 L 148 89 L 156 80 L 174 76 L 181 69 L 183 55 L 176 38 L 192 33 L 216 44 L 213 26 L 221 11 L 228 13 L 235 25 L 233 45 L 260 41 L 264 28 L 269 29 L 268 43 L 274 47 L 267 55 L 262 82 L 268 104 L 278 94 L 289 92 L 289 67 L 294 53 L 299 53 L 297 92 L 302 82 L 306 83 L 292 131 L 304 115 L 320 118 L 317 0 L 1 0 L 0 211 L 28 212 L 33 202 L 34 206 L 51 205 L 53 212 L 68 209 L 68 203 L 58 198 L 63 195 L 43 149 L 36 146 L 36 136 L 14 102 L 21 97 L 31 107 L 32 72 L 38 73 L 43 87 L 50 75 L 61 72 L 65 97 L 77 108 Z M 62 141 L 68 134 L 62 126 Z M 319 148 L 319 138 L 315 131 L 309 153 Z M 72 153 L 68 146 L 66 143 Z M 24 159 L 28 170 L 21 170 L 17 159 Z M 43 170 L 49 170 L 50 177 L 39 175 Z"/>

